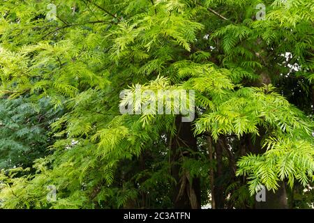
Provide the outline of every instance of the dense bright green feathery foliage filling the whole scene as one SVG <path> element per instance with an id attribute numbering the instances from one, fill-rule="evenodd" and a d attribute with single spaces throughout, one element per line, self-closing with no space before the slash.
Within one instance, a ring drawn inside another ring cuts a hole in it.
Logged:
<path id="1" fill-rule="evenodd" d="M 313 208 L 313 22 L 311 0 L 1 1 L 0 208 Z M 121 114 L 136 84 L 194 90 L 195 120 Z"/>

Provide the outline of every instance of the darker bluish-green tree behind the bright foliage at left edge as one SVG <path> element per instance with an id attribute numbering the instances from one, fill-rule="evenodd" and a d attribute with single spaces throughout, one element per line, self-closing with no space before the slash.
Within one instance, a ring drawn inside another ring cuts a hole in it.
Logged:
<path id="1" fill-rule="evenodd" d="M 0 168 L 32 167 L 33 160 L 49 154 L 48 146 L 54 144 L 50 124 L 61 112 L 43 98 L 31 102 L 20 97 L 0 102 Z"/>

